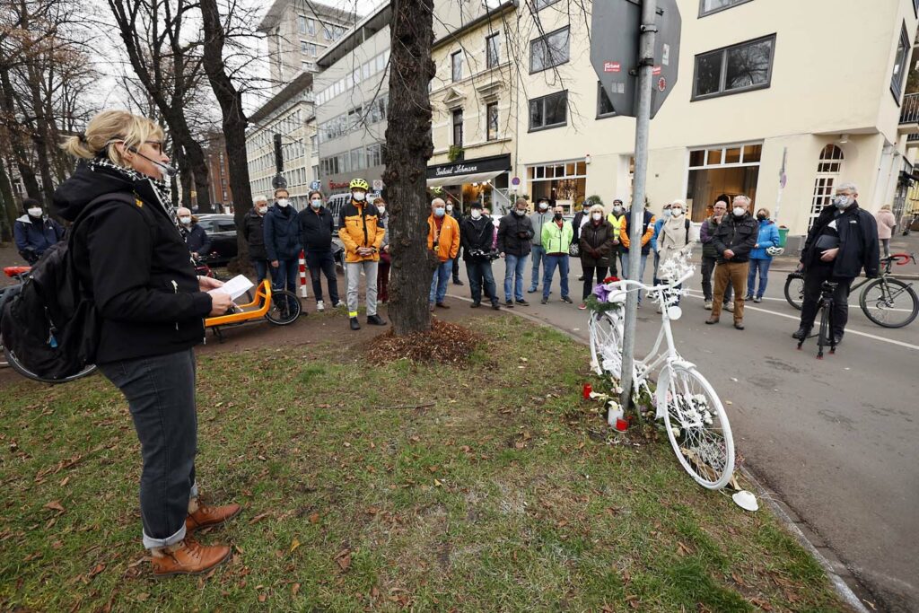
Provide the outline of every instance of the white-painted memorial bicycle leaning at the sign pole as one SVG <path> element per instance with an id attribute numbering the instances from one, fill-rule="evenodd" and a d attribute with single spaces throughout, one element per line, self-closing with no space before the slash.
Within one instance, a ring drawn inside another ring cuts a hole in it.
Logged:
<path id="1" fill-rule="evenodd" d="M 661 330 L 647 357 L 633 361 L 633 390 L 647 392 L 656 405 L 655 419 L 664 419 L 667 437 L 676 459 L 703 487 L 720 490 L 734 471 L 734 441 L 731 425 L 718 394 L 696 369 L 676 351 L 671 320 L 682 315 L 676 305 L 678 287 L 693 275 L 690 268 L 673 283 L 649 286 L 638 281 L 620 280 L 607 287 L 624 299 L 626 292 L 645 290 L 652 301 L 662 305 Z M 623 310 L 593 312 L 590 318 L 591 365 L 598 375 L 619 379 L 622 372 Z M 661 346 L 666 343 L 662 350 Z M 657 390 L 652 395 L 649 378 L 661 368 Z"/>

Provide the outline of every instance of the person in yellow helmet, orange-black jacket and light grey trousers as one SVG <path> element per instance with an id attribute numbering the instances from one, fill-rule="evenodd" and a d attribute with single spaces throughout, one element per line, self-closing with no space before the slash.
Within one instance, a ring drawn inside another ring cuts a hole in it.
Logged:
<path id="1" fill-rule="evenodd" d="M 380 211 L 367 201 L 369 184 L 364 179 L 351 181 L 351 201 L 342 207 L 338 219 L 338 237 L 345 244 L 345 277 L 347 281 L 347 314 L 351 329 L 360 330 L 357 322 L 357 289 L 360 271 L 367 278 L 367 323 L 386 325 L 377 314 L 377 267 L 380 246 L 386 229 L 380 222 Z"/>

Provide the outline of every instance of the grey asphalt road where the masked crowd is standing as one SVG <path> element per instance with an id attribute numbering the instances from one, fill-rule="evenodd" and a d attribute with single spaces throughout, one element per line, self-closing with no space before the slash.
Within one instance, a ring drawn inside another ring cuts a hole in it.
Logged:
<path id="1" fill-rule="evenodd" d="M 515 312 L 587 340 L 587 312 L 577 309 L 580 273 L 573 261 L 573 305 L 560 300 L 556 276 L 548 304 L 539 304 L 539 293 L 526 294 L 532 305 Z M 649 261 L 646 282 L 651 274 Z M 502 260 L 494 276 L 503 301 Z M 747 468 L 868 588 L 868 600 L 879 610 L 919 610 L 919 323 L 881 328 L 853 294 L 843 344 L 817 360 L 816 339 L 798 351 L 790 337 L 799 312 L 782 294 L 786 276 L 770 274 L 766 299 L 747 303 L 743 331 L 733 328 L 729 312 L 718 325 L 704 324 L 709 312 L 693 278 L 684 315 L 673 324 L 677 350 L 697 364 L 722 402 L 731 402 L 725 409 Z M 458 286 L 449 293 L 470 295 Z M 640 356 L 659 330 L 655 311 L 649 301 L 639 310 Z"/>

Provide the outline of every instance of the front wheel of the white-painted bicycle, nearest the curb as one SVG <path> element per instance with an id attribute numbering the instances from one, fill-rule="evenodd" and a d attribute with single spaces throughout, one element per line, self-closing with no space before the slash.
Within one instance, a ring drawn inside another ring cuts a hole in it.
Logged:
<path id="1" fill-rule="evenodd" d="M 669 367 L 664 423 L 676 459 L 702 487 L 720 490 L 734 472 L 731 424 L 718 394 L 696 369 Z"/>

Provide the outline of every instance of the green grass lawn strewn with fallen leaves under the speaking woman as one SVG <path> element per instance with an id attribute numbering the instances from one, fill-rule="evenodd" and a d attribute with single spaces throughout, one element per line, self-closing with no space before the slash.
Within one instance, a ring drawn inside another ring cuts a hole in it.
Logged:
<path id="1" fill-rule="evenodd" d="M 201 358 L 199 483 L 245 506 L 202 533 L 234 547 L 206 577 L 153 579 L 107 380 L 5 383 L 0 608 L 845 610 L 775 517 L 698 487 L 665 437 L 609 443 L 584 346 L 471 322 L 490 340 L 466 368 L 340 342 Z"/>

